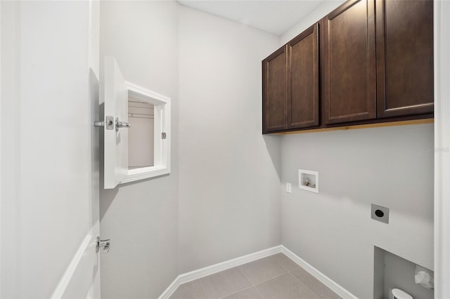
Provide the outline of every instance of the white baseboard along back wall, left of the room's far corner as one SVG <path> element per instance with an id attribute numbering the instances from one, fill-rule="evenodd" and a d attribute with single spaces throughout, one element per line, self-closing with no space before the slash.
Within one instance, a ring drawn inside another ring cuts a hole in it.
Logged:
<path id="1" fill-rule="evenodd" d="M 259 260 L 260 258 L 266 258 L 276 253 L 281 253 L 281 247 L 281 245 L 275 246 L 272 248 L 264 249 L 262 251 L 257 251 L 255 253 L 250 253 L 248 255 L 243 255 L 240 258 L 233 258 L 233 260 L 227 260 L 219 264 L 181 274 L 179 275 L 179 277 L 176 277 L 172 284 L 170 284 L 170 286 L 160 295 L 159 299 L 169 298 L 180 284 L 184 284 L 188 281 L 193 281 L 195 279 L 199 279 L 207 275 L 221 272 L 233 267 L 238 267 L 240 265 L 253 262 L 254 260 Z"/>

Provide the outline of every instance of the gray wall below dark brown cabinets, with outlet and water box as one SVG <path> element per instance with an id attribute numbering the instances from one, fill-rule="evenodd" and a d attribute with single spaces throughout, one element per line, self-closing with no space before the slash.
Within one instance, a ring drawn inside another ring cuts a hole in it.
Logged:
<path id="1" fill-rule="evenodd" d="M 373 296 L 373 246 L 432 269 L 432 146 L 433 124 L 284 136 L 282 244 L 358 298 Z M 319 194 L 297 188 L 298 168 L 319 171 Z"/>

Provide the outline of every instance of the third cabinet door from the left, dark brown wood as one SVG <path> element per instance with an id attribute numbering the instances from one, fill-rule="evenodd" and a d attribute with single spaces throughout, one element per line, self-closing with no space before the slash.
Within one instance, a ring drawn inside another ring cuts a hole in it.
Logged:
<path id="1" fill-rule="evenodd" d="M 325 124 L 376 117 L 374 10 L 372 0 L 348 1 L 321 21 Z"/>

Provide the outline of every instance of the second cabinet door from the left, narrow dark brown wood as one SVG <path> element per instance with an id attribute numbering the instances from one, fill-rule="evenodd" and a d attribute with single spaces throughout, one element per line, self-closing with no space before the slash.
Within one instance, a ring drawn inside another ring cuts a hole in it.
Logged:
<path id="1" fill-rule="evenodd" d="M 288 43 L 288 128 L 319 126 L 319 26 Z"/>

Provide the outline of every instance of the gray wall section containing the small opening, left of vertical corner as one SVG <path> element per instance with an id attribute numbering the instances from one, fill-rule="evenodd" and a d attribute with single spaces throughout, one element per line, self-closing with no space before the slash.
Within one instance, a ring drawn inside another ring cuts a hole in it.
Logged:
<path id="1" fill-rule="evenodd" d="M 101 58 L 172 98 L 172 173 L 101 190 L 102 298 L 157 298 L 178 272 L 178 21 L 174 1 L 101 1 Z"/>

